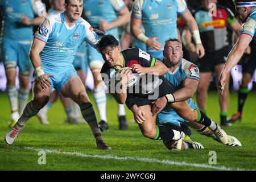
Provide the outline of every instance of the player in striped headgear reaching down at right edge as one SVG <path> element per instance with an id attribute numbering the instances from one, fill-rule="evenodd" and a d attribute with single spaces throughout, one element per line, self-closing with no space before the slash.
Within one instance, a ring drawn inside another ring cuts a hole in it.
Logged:
<path id="1" fill-rule="evenodd" d="M 230 73 L 230 70 L 241 59 L 245 48 L 249 45 L 251 40 L 256 42 L 256 1 L 236 0 L 235 3 L 238 18 L 242 20 L 243 24 L 237 43 L 229 52 L 225 67 L 223 68 L 220 79 L 218 81 L 221 94 L 224 93 L 225 82 Z M 254 59 L 254 61 L 256 61 L 256 59 Z"/>

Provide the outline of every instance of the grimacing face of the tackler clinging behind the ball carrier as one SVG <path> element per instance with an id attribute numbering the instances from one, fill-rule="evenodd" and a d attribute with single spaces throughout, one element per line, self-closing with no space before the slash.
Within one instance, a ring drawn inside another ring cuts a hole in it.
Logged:
<path id="1" fill-rule="evenodd" d="M 180 43 L 177 41 L 167 42 L 164 46 L 163 55 L 172 65 L 178 64 L 183 56 Z"/>

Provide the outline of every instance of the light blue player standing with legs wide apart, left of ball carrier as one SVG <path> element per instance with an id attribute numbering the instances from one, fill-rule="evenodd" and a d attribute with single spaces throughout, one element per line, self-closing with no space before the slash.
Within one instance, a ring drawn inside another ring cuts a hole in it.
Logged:
<path id="1" fill-rule="evenodd" d="M 90 24 L 81 18 L 82 7 L 82 0 L 65 0 L 64 13 L 47 16 L 36 31 L 30 50 L 31 63 L 35 68 L 33 98 L 18 122 L 6 133 L 7 144 L 13 144 L 27 120 L 47 104 L 51 89 L 55 88 L 80 106 L 97 147 L 110 149 L 101 137 L 93 106 L 72 65 L 77 49 L 83 42 L 95 46 L 99 40 Z"/>

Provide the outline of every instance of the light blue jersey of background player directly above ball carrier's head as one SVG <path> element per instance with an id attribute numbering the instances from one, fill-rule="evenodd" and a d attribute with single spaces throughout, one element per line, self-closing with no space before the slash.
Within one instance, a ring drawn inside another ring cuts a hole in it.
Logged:
<path id="1" fill-rule="evenodd" d="M 122 0 L 84 0 L 83 15 L 93 28 L 98 28 L 100 19 L 113 22 L 118 18 L 119 11 L 125 7 Z M 119 40 L 117 27 L 106 31 L 106 33 L 114 35 Z"/>

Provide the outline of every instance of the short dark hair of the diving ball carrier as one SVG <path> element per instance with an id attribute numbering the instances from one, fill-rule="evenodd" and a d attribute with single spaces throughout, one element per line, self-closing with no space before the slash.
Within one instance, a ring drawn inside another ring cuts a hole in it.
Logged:
<path id="1" fill-rule="evenodd" d="M 115 48 L 119 46 L 119 42 L 113 35 L 104 35 L 96 45 L 98 52 L 104 51 L 107 47 Z"/>

